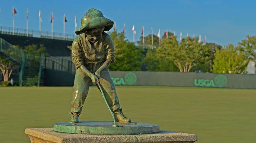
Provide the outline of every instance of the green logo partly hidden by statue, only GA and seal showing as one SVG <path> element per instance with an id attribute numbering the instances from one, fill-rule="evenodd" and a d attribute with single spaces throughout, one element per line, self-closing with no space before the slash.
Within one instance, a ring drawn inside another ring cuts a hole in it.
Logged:
<path id="1" fill-rule="evenodd" d="M 124 79 L 121 78 L 112 78 L 113 82 L 115 85 L 133 85 L 137 81 L 137 76 L 133 72 L 128 72 L 125 76 Z"/>

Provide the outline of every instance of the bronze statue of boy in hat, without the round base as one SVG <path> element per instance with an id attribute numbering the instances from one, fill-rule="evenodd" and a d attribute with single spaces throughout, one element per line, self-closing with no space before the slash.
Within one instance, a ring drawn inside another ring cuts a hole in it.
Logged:
<path id="1" fill-rule="evenodd" d="M 113 40 L 104 31 L 109 31 L 113 24 L 99 10 L 92 8 L 85 13 L 82 26 L 75 31 L 79 36 L 72 44 L 72 61 L 76 68 L 71 102 L 72 123 L 78 122 L 91 82 L 100 83 L 115 120 L 131 122 L 122 113 L 116 87 L 108 71 L 108 66 L 115 61 L 115 52 Z"/>

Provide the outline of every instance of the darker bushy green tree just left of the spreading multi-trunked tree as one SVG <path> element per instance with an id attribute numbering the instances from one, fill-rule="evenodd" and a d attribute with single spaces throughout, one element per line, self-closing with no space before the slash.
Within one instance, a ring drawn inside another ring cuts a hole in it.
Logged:
<path id="1" fill-rule="evenodd" d="M 148 71 L 179 71 L 174 62 L 167 58 L 160 58 L 156 49 L 148 49 L 145 58 L 142 61 L 147 63 Z"/>

